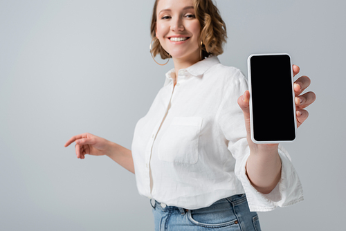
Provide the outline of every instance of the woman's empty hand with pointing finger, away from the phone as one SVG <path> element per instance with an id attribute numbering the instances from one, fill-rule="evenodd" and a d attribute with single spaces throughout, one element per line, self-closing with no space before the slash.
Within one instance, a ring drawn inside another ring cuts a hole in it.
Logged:
<path id="1" fill-rule="evenodd" d="M 93 156 L 107 155 L 111 149 L 111 142 L 109 140 L 94 136 L 91 133 L 82 133 L 73 136 L 64 146 L 68 147 L 73 142 L 76 143 L 75 154 L 80 159 L 84 159 L 86 154 Z"/>

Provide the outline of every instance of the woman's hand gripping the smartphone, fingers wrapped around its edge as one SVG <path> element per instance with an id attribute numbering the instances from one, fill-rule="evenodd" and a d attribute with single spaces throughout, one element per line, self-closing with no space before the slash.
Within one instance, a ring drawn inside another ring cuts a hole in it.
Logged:
<path id="1" fill-rule="evenodd" d="M 293 65 L 293 75 L 297 75 L 300 71 L 299 66 Z M 295 93 L 295 113 L 297 117 L 297 127 L 300 127 L 300 125 L 307 120 L 309 113 L 304 108 L 308 107 L 310 104 L 312 104 L 316 100 L 316 95 L 312 91 L 309 91 L 307 93 L 302 94 L 302 91 L 307 89 L 307 87 L 310 85 L 311 80 L 309 77 L 302 75 L 298 80 L 295 80 L 293 88 Z M 245 126 L 246 126 L 246 133 L 248 137 L 248 143 L 250 147 L 253 144 L 251 140 L 251 129 L 250 129 L 250 93 L 249 91 L 245 91 L 245 93 L 238 98 L 238 104 L 240 108 L 242 109 L 244 113 L 245 118 Z M 268 145 L 273 148 L 275 145 Z"/>

